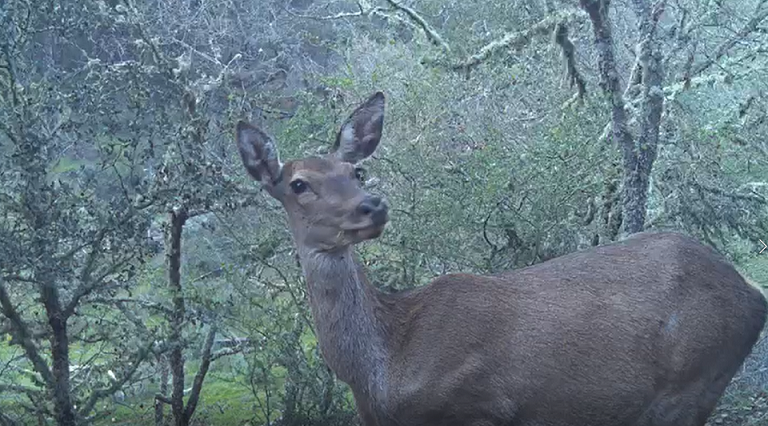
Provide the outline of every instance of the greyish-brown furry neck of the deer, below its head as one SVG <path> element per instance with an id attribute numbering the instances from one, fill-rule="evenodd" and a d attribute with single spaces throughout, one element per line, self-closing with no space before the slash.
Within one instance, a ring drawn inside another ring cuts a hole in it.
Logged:
<path id="1" fill-rule="evenodd" d="M 381 293 L 365 277 L 351 247 L 299 252 L 318 343 L 328 366 L 356 391 L 378 400 L 387 392 L 387 328 Z"/>

